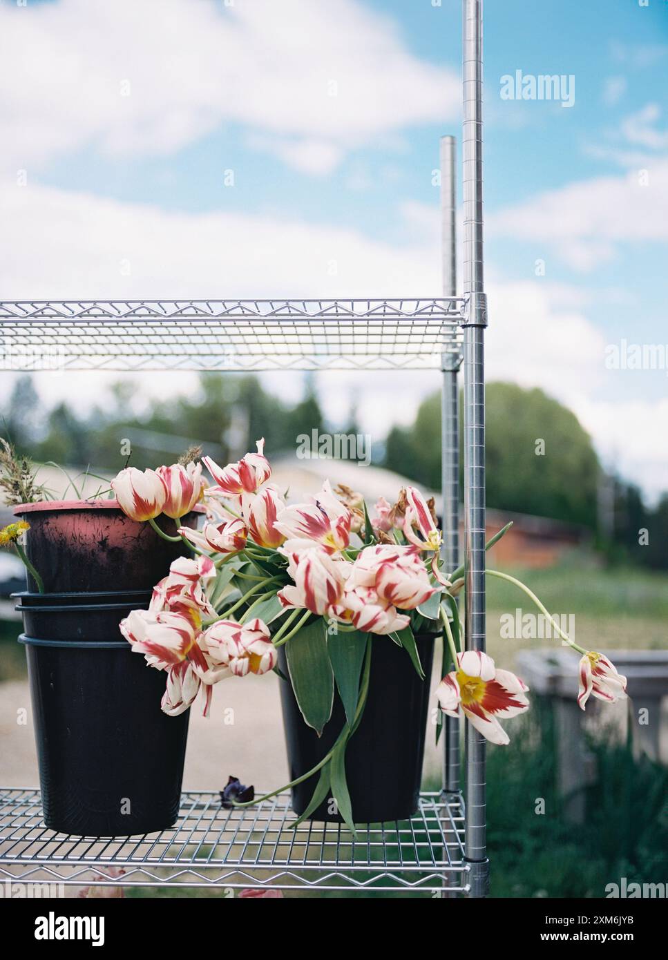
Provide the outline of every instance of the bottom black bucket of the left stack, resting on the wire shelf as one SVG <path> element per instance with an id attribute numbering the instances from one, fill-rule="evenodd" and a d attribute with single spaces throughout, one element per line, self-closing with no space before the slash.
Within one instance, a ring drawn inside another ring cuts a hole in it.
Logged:
<path id="1" fill-rule="evenodd" d="M 189 711 L 160 709 L 166 674 L 126 640 L 21 635 L 26 645 L 44 822 L 78 836 L 172 827 Z"/>

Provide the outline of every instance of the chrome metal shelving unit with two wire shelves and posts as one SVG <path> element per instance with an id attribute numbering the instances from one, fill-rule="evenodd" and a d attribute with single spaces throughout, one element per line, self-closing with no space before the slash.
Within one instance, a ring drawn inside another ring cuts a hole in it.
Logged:
<path id="1" fill-rule="evenodd" d="M 442 372 L 443 555 L 459 563 L 459 371 L 464 367 L 465 636 L 485 650 L 485 387 L 482 7 L 464 12 L 464 296 L 457 297 L 455 143 L 441 140 L 443 297 L 394 300 L 0 301 L 5 369 Z M 443 780 L 409 821 L 291 827 L 289 798 L 224 810 L 183 795 L 159 834 L 69 837 L 44 827 L 38 791 L 0 788 L 0 876 L 65 885 L 375 890 L 485 896 L 485 740 L 447 719 Z M 114 868 L 111 870 L 111 868 Z M 118 870 L 122 876 L 116 876 Z"/>

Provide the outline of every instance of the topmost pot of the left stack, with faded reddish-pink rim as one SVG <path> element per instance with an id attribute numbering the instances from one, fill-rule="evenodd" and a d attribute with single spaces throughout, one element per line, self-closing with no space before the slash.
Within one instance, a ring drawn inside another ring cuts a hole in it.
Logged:
<path id="1" fill-rule="evenodd" d="M 201 509 L 184 516 L 182 525 L 196 527 Z M 14 507 L 14 514 L 30 524 L 26 552 L 47 593 L 150 590 L 172 561 L 189 555 L 185 544 L 131 520 L 116 500 L 44 500 Z M 156 522 L 176 535 L 168 516 Z M 28 588 L 37 588 L 30 574 Z"/>

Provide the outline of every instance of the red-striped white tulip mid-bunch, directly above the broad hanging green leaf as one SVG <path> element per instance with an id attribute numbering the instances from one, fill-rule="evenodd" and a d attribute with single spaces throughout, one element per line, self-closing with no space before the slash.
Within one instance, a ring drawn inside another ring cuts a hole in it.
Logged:
<path id="1" fill-rule="evenodd" d="M 280 552 L 285 553 L 285 548 L 281 547 Z M 288 573 L 295 586 L 278 591 L 280 603 L 283 607 L 305 607 L 320 616 L 328 615 L 330 607 L 341 603 L 352 564 L 313 545 L 310 550 L 298 550 L 286 556 Z"/>

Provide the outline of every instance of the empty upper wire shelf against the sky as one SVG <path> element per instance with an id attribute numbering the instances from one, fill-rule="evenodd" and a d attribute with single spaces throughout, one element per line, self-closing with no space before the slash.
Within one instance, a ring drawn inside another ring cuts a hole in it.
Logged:
<path id="1" fill-rule="evenodd" d="M 393 370 L 459 362 L 464 300 L 2 300 L 0 365 Z"/>

